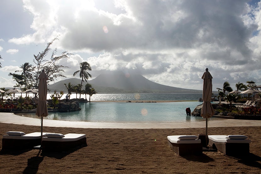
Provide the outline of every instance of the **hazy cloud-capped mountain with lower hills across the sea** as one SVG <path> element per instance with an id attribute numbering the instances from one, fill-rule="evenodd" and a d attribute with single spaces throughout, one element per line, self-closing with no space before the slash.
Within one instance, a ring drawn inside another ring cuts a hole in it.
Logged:
<path id="1" fill-rule="evenodd" d="M 48 86 L 48 89 L 54 91 L 64 91 L 67 89 L 64 83 L 81 84 L 81 79 L 70 78 L 58 81 Z M 170 87 L 150 81 L 139 74 L 125 75 L 122 71 L 113 71 L 106 74 L 100 74 L 88 83 L 98 93 L 202 93 L 202 90 L 184 89 Z M 83 88 L 86 82 L 83 83 Z"/>

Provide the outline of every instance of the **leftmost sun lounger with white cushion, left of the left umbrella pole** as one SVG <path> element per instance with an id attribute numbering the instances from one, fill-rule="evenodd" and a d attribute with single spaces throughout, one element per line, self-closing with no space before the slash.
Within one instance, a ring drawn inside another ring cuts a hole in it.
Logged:
<path id="1" fill-rule="evenodd" d="M 6 132 L 3 135 L 2 149 L 29 149 L 41 144 L 41 132 Z M 9 134 L 9 135 L 8 135 Z M 43 132 L 43 135 L 47 133 Z"/>

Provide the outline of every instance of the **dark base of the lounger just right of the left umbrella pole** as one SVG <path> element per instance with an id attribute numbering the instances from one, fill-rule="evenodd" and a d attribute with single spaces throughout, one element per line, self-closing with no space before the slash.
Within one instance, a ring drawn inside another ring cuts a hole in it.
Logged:
<path id="1" fill-rule="evenodd" d="M 75 148 L 78 146 L 87 146 L 86 137 L 81 138 L 77 141 L 42 141 L 42 150 L 43 151 L 63 151 L 71 148 Z"/>

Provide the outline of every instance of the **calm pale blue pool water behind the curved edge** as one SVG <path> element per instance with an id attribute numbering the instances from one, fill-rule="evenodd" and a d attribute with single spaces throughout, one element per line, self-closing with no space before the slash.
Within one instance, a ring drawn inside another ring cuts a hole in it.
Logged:
<path id="1" fill-rule="evenodd" d="M 49 113 L 45 119 L 86 122 L 192 122 L 205 121 L 202 117 L 187 116 L 185 109 L 194 108 L 202 102 L 91 102 L 80 103 L 80 111 Z M 19 114 L 21 115 L 21 114 Z M 22 116 L 38 118 L 35 114 Z M 216 120 L 218 118 L 210 118 Z"/>

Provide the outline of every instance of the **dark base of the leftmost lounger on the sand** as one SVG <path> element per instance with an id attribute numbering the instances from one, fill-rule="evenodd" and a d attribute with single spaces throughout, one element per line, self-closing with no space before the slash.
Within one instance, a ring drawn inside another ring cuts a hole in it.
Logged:
<path id="1" fill-rule="evenodd" d="M 30 149 L 41 144 L 41 139 L 2 139 L 2 149 Z"/>

